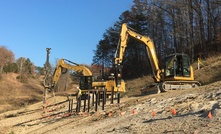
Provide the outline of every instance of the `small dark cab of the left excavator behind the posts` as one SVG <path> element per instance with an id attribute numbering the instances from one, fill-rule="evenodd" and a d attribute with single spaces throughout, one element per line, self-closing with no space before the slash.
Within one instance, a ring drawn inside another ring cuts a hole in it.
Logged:
<path id="1" fill-rule="evenodd" d="M 92 82 L 93 82 L 92 76 L 81 76 L 79 87 L 81 90 L 92 89 Z"/>

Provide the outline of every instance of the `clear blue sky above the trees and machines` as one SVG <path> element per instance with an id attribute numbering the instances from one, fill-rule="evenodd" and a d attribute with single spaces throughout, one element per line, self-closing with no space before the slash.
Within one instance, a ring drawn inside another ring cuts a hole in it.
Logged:
<path id="1" fill-rule="evenodd" d="M 90 65 L 106 29 L 133 0 L 0 0 L 0 46 L 43 67 L 65 58 Z"/>

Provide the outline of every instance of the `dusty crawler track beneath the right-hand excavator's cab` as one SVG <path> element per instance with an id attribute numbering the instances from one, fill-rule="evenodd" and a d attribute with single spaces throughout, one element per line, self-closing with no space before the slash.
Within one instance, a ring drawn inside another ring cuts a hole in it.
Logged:
<path id="1" fill-rule="evenodd" d="M 158 91 L 167 92 L 168 90 L 180 90 L 197 88 L 201 86 L 199 81 L 165 81 L 158 85 Z"/>

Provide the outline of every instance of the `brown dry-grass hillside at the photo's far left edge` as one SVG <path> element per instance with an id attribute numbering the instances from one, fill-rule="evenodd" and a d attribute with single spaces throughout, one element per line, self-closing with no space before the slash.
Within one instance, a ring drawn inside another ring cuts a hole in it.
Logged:
<path id="1" fill-rule="evenodd" d="M 43 87 L 40 79 L 30 78 L 28 83 L 20 83 L 17 74 L 3 74 L 0 81 L 0 113 L 17 109 L 42 100 Z"/>

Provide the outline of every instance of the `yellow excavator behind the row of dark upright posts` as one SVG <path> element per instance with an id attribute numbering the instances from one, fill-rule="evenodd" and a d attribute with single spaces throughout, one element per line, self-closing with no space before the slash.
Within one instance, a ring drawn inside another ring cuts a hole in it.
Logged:
<path id="1" fill-rule="evenodd" d="M 67 63 L 68 62 L 68 63 Z M 114 92 L 117 92 L 117 87 L 115 86 L 115 80 L 114 77 L 112 79 L 107 80 L 107 81 L 102 81 L 102 82 L 95 82 L 94 78 L 92 76 L 92 72 L 90 71 L 89 68 L 87 68 L 84 65 L 79 65 L 77 63 L 74 63 L 70 60 L 67 59 L 60 59 L 56 65 L 56 68 L 53 73 L 53 80 L 51 84 L 51 89 L 54 89 L 61 73 L 66 73 L 68 70 L 73 70 L 78 73 L 81 73 L 82 75 L 80 76 L 80 82 L 79 82 L 79 88 L 84 91 L 84 90 L 91 90 L 91 89 L 102 89 L 105 88 L 107 94 L 111 93 L 114 89 Z M 124 81 L 121 82 L 121 88 L 119 92 L 125 92 L 125 83 Z"/>

